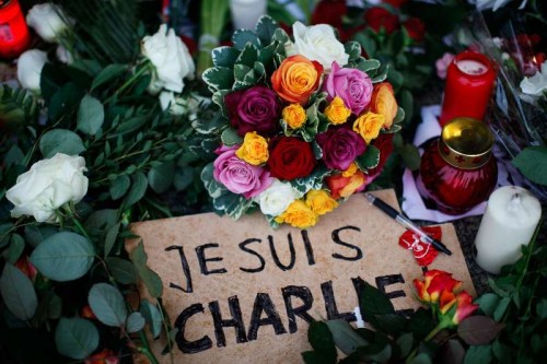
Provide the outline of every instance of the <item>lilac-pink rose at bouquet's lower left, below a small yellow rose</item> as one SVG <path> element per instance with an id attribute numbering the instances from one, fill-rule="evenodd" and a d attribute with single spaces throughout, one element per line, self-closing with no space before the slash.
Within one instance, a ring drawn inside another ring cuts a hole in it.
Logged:
<path id="1" fill-rule="evenodd" d="M 238 145 L 222 145 L 217 150 L 219 156 L 213 163 L 213 177 L 230 191 L 248 199 L 267 189 L 274 183 L 274 178 L 263 167 L 240 160 L 235 155 L 238 148 Z"/>

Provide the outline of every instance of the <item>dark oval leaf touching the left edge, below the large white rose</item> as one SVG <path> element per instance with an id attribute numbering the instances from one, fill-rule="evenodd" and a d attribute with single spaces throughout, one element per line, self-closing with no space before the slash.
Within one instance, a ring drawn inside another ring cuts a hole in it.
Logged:
<path id="1" fill-rule="evenodd" d="M 21 320 L 28 320 L 38 307 L 33 283 L 13 265 L 7 262 L 0 277 L 0 293 L 8 309 Z"/>

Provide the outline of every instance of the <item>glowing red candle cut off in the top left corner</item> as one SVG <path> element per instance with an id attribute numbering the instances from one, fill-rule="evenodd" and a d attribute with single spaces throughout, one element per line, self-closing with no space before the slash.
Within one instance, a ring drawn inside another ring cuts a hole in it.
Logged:
<path id="1" fill-rule="evenodd" d="M 30 42 L 31 34 L 19 1 L 0 0 L 0 57 L 18 57 Z"/>

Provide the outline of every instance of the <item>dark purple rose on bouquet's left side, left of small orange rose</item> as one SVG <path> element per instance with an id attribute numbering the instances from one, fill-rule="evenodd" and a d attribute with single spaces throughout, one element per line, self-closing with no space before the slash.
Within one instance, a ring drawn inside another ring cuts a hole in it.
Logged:
<path id="1" fill-rule="evenodd" d="M 244 137 L 248 131 L 261 136 L 276 132 L 279 127 L 281 105 L 276 93 L 266 86 L 235 91 L 224 96 L 230 124 Z"/>

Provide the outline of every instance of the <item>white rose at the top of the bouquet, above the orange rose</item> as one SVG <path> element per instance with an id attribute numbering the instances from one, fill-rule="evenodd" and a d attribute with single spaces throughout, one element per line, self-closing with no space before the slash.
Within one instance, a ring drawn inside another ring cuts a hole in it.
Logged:
<path id="1" fill-rule="evenodd" d="M 290 56 L 301 55 L 310 60 L 319 62 L 326 71 L 329 71 L 333 62 L 340 67 L 348 63 L 349 56 L 344 45 L 336 38 L 330 25 L 319 24 L 305 26 L 301 22 L 292 25 L 294 44 L 289 46 Z"/>

